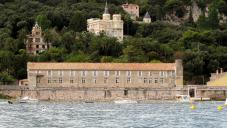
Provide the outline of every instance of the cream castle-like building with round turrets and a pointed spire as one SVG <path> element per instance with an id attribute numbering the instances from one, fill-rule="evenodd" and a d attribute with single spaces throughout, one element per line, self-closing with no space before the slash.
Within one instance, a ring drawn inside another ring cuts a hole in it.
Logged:
<path id="1" fill-rule="evenodd" d="M 104 32 L 107 36 L 116 37 L 119 41 L 123 41 L 124 28 L 123 20 L 120 14 L 114 14 L 111 19 L 109 14 L 107 3 L 105 7 L 102 19 L 91 18 L 87 20 L 87 31 L 92 32 L 96 35 Z"/>

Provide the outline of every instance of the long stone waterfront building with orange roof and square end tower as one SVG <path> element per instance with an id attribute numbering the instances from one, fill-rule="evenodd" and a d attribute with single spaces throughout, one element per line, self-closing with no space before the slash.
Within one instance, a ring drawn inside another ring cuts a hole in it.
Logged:
<path id="1" fill-rule="evenodd" d="M 32 87 L 173 88 L 183 86 L 181 60 L 175 63 L 32 63 Z"/>

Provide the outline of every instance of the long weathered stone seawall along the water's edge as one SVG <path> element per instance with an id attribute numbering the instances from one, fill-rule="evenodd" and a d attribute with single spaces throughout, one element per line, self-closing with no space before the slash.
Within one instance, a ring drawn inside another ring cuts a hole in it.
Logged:
<path id="1" fill-rule="evenodd" d="M 0 93 L 15 98 L 29 96 L 45 101 L 112 101 L 115 99 L 174 100 L 187 95 L 188 88 L 1 88 Z M 225 99 L 226 89 L 196 89 L 196 97 Z"/>

